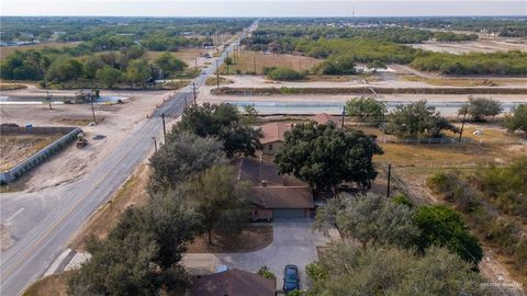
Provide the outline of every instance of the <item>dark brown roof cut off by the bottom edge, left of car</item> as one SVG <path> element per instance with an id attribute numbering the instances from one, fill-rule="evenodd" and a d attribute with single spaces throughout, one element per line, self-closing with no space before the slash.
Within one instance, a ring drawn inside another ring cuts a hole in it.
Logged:
<path id="1" fill-rule="evenodd" d="M 274 280 L 232 269 L 210 275 L 202 275 L 192 283 L 192 296 L 274 296 Z"/>

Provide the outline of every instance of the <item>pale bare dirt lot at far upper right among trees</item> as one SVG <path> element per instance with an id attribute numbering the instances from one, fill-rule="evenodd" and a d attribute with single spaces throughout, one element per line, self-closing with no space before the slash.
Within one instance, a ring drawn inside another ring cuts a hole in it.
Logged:
<path id="1" fill-rule="evenodd" d="M 424 50 L 450 53 L 456 55 L 508 50 L 527 52 L 527 41 L 520 38 L 481 38 L 475 42 L 460 43 L 426 42 L 423 44 L 411 44 L 410 46 Z"/>

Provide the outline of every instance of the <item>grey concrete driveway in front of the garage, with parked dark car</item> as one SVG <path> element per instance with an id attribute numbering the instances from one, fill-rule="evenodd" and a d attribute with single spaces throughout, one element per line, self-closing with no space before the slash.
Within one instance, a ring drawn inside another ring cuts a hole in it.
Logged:
<path id="1" fill-rule="evenodd" d="M 316 247 L 325 246 L 330 239 L 313 231 L 312 220 L 276 220 L 273 241 L 268 247 L 247 253 L 187 253 L 183 264 L 191 274 L 213 273 L 218 265 L 227 265 L 248 272 L 257 272 L 267 265 L 277 276 L 277 289 L 282 289 L 283 267 L 295 264 L 300 270 L 300 286 L 307 288 L 305 265 L 316 261 Z M 332 231 L 335 235 L 336 231 Z"/>

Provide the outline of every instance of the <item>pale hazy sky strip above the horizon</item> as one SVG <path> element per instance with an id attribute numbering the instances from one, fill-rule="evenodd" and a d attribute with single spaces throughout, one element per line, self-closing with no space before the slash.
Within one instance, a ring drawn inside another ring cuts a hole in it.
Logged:
<path id="1" fill-rule="evenodd" d="M 0 15 L 113 16 L 526 15 L 527 0 L 0 0 Z"/>

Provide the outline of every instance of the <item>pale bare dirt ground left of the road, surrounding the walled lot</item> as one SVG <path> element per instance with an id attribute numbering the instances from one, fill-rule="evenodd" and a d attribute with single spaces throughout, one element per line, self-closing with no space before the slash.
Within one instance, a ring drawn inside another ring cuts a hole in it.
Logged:
<path id="1" fill-rule="evenodd" d="M 20 92 L 26 95 L 41 95 L 43 91 L 26 89 L 9 93 Z M 53 91 L 54 95 L 69 95 L 72 92 Z M 32 123 L 35 126 L 77 125 L 82 128 L 88 139 L 88 147 L 77 149 L 75 146 L 69 146 L 32 170 L 23 178 L 25 190 L 34 192 L 78 180 L 124 140 L 138 123 L 155 110 L 156 105 L 162 104 L 169 93 L 168 91 L 103 91 L 101 95 L 122 95 L 128 99 L 123 104 L 96 105 L 96 116 L 99 119 L 104 118 L 97 126 L 87 126 L 91 117 L 91 109 L 87 104 L 56 105 L 53 111 L 45 105 L 1 105 L 0 123 L 19 125 Z M 94 139 L 99 135 L 103 137 Z M 46 178 L 35 178 L 36 175 L 46 175 Z"/>

